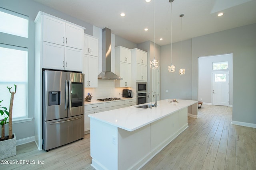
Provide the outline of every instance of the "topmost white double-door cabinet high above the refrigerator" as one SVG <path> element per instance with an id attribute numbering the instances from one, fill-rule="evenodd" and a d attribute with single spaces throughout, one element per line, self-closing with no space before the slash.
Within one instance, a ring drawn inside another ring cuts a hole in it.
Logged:
<path id="1" fill-rule="evenodd" d="M 84 29 L 44 15 L 43 41 L 83 49 Z"/>

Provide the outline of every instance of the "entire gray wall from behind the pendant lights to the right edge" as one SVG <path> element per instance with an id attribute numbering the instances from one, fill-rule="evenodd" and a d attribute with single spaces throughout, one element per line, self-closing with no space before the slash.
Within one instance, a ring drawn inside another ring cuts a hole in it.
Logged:
<path id="1" fill-rule="evenodd" d="M 183 42 L 184 76 L 180 68 L 180 42 L 173 44 L 175 73 L 169 73 L 170 45 L 161 47 L 161 99 L 198 100 L 198 57 L 233 53 L 233 121 L 256 124 L 256 23 L 196 37 Z M 169 90 L 168 93 L 165 90 Z M 245 101 L 245 102 L 242 102 Z"/>

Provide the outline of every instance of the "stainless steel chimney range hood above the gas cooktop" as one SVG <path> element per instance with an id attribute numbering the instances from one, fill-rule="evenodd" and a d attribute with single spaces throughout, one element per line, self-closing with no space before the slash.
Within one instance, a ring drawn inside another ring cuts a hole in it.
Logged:
<path id="1" fill-rule="evenodd" d="M 122 78 L 111 72 L 111 29 L 102 30 L 102 72 L 98 79 L 122 80 Z"/>

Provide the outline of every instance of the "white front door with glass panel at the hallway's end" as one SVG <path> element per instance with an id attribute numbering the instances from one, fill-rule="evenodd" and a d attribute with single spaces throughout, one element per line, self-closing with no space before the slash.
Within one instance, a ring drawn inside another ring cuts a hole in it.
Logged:
<path id="1" fill-rule="evenodd" d="M 212 104 L 228 106 L 229 72 L 212 72 Z"/>

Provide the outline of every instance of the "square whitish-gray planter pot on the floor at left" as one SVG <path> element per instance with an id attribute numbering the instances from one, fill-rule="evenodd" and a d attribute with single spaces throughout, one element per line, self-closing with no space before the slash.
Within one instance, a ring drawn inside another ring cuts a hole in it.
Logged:
<path id="1" fill-rule="evenodd" d="M 5 141 L 0 141 L 0 160 L 16 155 L 16 136 Z"/>

